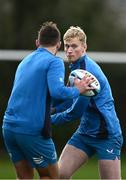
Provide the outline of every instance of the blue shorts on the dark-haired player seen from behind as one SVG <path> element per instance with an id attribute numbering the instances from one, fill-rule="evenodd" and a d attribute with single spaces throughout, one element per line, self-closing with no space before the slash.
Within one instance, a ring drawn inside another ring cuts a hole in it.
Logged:
<path id="1" fill-rule="evenodd" d="M 4 142 L 14 163 L 28 160 L 32 167 L 47 167 L 57 162 L 57 154 L 51 138 L 18 134 L 3 130 Z"/>

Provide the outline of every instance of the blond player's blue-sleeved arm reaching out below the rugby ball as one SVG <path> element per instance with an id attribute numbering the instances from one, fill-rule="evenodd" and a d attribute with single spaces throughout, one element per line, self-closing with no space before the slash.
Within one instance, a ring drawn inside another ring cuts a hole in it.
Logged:
<path id="1" fill-rule="evenodd" d="M 81 118 L 83 112 L 88 107 L 90 98 L 86 96 L 79 96 L 79 98 L 74 102 L 74 104 L 62 113 L 57 113 L 51 116 L 51 121 L 53 124 L 59 125 L 65 122 L 70 122 Z"/>

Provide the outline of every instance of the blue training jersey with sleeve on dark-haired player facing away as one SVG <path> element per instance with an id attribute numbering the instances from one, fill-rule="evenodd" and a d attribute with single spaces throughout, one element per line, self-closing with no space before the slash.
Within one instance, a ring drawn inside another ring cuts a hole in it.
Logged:
<path id="1" fill-rule="evenodd" d="M 64 86 L 64 63 L 44 48 L 38 48 L 19 64 L 4 115 L 3 128 L 14 132 L 40 134 L 46 118 L 49 96 L 72 99 L 77 88 Z M 48 107 L 49 108 L 49 107 Z"/>

